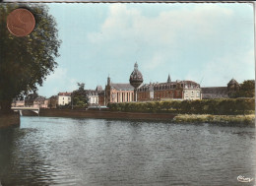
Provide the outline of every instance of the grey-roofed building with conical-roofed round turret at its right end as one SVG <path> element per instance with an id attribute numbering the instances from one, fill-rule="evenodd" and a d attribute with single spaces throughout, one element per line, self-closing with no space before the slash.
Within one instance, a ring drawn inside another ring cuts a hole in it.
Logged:
<path id="1" fill-rule="evenodd" d="M 239 91 L 240 85 L 234 80 L 231 79 L 226 87 L 206 87 L 202 88 L 202 98 L 228 98 L 232 97 L 233 93 Z"/>

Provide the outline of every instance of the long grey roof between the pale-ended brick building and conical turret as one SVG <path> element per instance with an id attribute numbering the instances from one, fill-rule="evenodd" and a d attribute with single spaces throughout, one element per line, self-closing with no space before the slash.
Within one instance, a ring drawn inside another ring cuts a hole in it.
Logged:
<path id="1" fill-rule="evenodd" d="M 201 88 L 202 98 L 228 98 L 226 87 Z"/>

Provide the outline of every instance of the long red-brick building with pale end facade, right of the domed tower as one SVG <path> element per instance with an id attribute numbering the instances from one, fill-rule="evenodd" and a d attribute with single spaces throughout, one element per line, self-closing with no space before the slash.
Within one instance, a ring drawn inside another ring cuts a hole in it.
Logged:
<path id="1" fill-rule="evenodd" d="M 150 83 L 138 89 L 138 101 L 167 99 L 201 99 L 200 85 L 193 81 L 171 82 L 168 75 L 165 83 Z"/>

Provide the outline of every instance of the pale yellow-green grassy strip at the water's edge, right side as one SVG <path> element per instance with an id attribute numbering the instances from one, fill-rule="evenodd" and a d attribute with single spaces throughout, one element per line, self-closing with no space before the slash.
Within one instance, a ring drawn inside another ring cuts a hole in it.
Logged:
<path id="1" fill-rule="evenodd" d="M 255 124 L 255 115 L 210 115 L 210 114 L 178 114 L 173 118 L 176 123 L 234 123 Z"/>

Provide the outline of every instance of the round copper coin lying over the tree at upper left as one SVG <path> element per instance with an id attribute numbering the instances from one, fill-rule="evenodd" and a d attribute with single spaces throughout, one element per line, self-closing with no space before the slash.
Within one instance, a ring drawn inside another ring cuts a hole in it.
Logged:
<path id="1" fill-rule="evenodd" d="M 16 36 L 27 36 L 34 26 L 34 17 L 27 9 L 15 9 L 7 17 L 7 29 Z"/>

